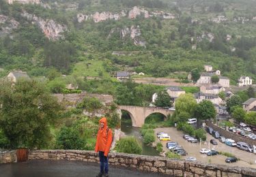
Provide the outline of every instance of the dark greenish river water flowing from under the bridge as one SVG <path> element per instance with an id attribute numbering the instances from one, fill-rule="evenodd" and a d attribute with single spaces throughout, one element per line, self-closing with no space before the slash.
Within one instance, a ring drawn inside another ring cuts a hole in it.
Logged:
<path id="1" fill-rule="evenodd" d="M 159 153 L 152 146 L 148 146 L 143 143 L 143 137 L 141 135 L 140 129 L 137 127 L 132 127 L 131 123 L 123 122 L 121 123 L 121 131 L 123 131 L 128 136 L 134 136 L 142 146 L 142 155 L 159 156 Z"/>

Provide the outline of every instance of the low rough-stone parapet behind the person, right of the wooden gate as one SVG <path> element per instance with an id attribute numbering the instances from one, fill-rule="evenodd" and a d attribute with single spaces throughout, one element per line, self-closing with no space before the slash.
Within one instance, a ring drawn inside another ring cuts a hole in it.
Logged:
<path id="1" fill-rule="evenodd" d="M 68 161 L 99 163 L 98 153 L 87 150 L 32 150 L 29 152 L 29 160 L 35 159 L 65 159 Z M 110 153 L 109 163 L 111 165 L 128 167 L 134 170 L 169 174 L 170 176 L 256 176 L 256 169 L 252 168 L 229 167 L 227 165 L 182 161 L 165 157 L 129 155 L 124 153 Z"/>

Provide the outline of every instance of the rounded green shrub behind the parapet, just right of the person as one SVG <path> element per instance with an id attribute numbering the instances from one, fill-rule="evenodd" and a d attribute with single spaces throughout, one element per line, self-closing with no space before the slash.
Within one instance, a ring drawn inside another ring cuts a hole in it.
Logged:
<path id="1" fill-rule="evenodd" d="M 134 137 L 122 138 L 116 143 L 115 150 L 128 154 L 141 155 L 142 148 Z"/>

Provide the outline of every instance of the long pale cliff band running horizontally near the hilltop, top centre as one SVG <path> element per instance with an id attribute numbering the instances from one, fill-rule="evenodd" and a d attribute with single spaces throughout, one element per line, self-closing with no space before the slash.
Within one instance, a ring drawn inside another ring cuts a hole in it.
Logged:
<path id="1" fill-rule="evenodd" d="M 134 6 L 132 10 L 126 11 L 122 10 L 119 13 L 112 12 L 95 12 L 94 14 L 77 14 L 76 18 L 79 22 L 83 22 L 84 20 L 94 20 L 94 22 L 102 22 L 104 20 L 119 20 L 122 17 L 127 17 L 130 19 L 137 18 L 137 16 L 143 16 L 144 18 L 150 18 L 153 16 L 164 18 L 164 19 L 174 19 L 175 14 L 171 14 L 169 12 L 163 11 L 153 11 L 148 12 L 143 7 Z"/>

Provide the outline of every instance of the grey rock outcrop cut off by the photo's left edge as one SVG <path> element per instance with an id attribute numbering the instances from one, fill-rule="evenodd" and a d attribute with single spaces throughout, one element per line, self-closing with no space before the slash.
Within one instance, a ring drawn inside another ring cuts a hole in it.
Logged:
<path id="1" fill-rule="evenodd" d="M 20 23 L 8 16 L 0 15 L 0 36 L 8 34 L 12 29 L 16 29 Z"/>

